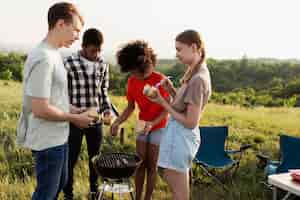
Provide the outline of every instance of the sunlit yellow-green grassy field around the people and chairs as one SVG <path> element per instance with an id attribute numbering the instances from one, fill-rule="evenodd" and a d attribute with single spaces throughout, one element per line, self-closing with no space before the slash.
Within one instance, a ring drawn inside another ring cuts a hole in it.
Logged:
<path id="1" fill-rule="evenodd" d="M 31 153 L 15 145 L 15 128 L 21 103 L 22 87 L 19 83 L 0 81 L 0 199 L 30 199 L 35 187 Z M 126 105 L 124 97 L 112 97 L 122 110 Z M 132 128 L 136 113 L 124 124 L 125 145 L 116 139 L 113 146 L 106 140 L 102 151 L 134 151 L 135 135 Z M 241 167 L 232 181 L 229 192 L 223 191 L 207 177 L 200 184 L 193 185 L 192 199 L 263 200 L 270 193 L 259 182 L 263 172 L 256 166 L 255 154 L 264 152 L 278 157 L 278 135 L 287 133 L 300 136 L 300 110 L 296 108 L 243 108 L 209 104 L 201 125 L 228 125 L 229 148 L 252 143 L 253 148 L 245 154 Z M 107 128 L 106 131 L 107 133 Z M 107 138 L 107 137 L 106 137 Z M 197 171 L 195 176 L 202 176 Z M 75 173 L 76 199 L 86 199 L 88 193 L 87 151 L 84 145 Z M 162 180 L 158 180 L 153 199 L 170 199 L 170 191 Z"/>

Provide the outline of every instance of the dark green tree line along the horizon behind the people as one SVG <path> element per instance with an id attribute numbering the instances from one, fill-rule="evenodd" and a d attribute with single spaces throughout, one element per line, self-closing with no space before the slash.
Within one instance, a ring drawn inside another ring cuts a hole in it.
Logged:
<path id="1" fill-rule="evenodd" d="M 0 79 L 22 81 L 26 55 L 0 52 Z M 221 104 L 237 104 L 247 107 L 299 107 L 300 61 L 278 59 L 207 59 L 211 72 L 212 101 Z M 110 91 L 124 95 L 129 74 L 110 65 Z M 175 59 L 161 59 L 156 69 L 173 77 L 175 86 L 185 67 Z M 121 86 L 121 87 L 120 87 Z"/>

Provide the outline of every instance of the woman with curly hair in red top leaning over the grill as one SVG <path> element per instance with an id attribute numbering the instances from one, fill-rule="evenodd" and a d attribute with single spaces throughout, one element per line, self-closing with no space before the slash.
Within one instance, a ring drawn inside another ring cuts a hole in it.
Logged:
<path id="1" fill-rule="evenodd" d="M 150 200 L 157 176 L 157 159 L 162 129 L 167 124 L 168 115 L 165 109 L 152 101 L 144 94 L 146 85 L 156 87 L 164 99 L 169 101 L 169 94 L 159 83 L 165 76 L 156 72 L 156 55 L 153 49 L 144 41 L 133 41 L 126 44 L 117 53 L 118 64 L 122 72 L 129 72 L 127 82 L 127 107 L 111 126 L 111 134 L 116 135 L 121 123 L 133 113 L 135 105 L 139 108 L 139 121 L 142 123 L 137 133 L 136 151 L 143 163 L 137 169 L 135 177 L 136 199 L 142 199 L 145 173 L 147 172 L 147 187 L 145 200 Z M 137 123 L 138 124 L 138 123 Z"/>

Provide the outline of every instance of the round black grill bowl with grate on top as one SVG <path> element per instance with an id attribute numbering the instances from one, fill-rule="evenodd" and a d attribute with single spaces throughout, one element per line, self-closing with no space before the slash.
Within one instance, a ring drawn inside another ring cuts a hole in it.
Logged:
<path id="1" fill-rule="evenodd" d="M 138 155 L 127 153 L 106 153 L 92 159 L 99 176 L 114 180 L 130 178 L 141 162 Z"/>

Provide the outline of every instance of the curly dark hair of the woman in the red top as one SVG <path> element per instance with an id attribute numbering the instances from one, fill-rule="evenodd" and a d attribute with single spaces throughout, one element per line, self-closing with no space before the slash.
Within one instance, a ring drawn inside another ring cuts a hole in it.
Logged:
<path id="1" fill-rule="evenodd" d="M 156 54 L 148 43 L 142 40 L 135 40 L 125 44 L 117 52 L 117 62 L 122 72 L 145 71 L 156 65 Z"/>

